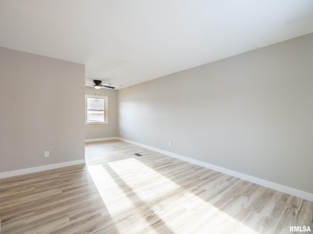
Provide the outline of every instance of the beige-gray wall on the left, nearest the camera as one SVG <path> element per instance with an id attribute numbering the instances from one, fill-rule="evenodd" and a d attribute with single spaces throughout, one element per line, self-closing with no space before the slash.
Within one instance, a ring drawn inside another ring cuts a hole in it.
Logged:
<path id="1" fill-rule="evenodd" d="M 83 64 L 0 47 L 0 172 L 85 158 L 84 82 Z"/>

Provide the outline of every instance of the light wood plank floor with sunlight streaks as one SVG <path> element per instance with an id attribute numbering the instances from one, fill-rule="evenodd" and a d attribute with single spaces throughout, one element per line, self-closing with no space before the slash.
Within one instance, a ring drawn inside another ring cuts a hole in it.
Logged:
<path id="1" fill-rule="evenodd" d="M 0 234 L 313 233 L 313 202 L 242 179 L 118 140 L 86 160 L 0 179 Z"/>

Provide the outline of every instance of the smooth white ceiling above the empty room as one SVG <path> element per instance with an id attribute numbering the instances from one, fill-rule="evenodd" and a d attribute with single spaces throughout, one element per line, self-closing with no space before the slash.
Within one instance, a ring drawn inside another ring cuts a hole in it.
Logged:
<path id="1" fill-rule="evenodd" d="M 0 0 L 0 46 L 117 88 L 312 32 L 313 0 Z"/>

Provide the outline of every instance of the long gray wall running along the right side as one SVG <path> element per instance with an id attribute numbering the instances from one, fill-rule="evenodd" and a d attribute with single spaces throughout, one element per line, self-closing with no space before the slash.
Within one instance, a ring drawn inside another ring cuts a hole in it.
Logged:
<path id="1" fill-rule="evenodd" d="M 120 137 L 313 193 L 312 62 L 309 34 L 118 90 Z"/>

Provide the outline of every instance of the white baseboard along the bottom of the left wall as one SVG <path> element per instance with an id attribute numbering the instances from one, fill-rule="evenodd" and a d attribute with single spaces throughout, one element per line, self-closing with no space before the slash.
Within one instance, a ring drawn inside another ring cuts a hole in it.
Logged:
<path id="1" fill-rule="evenodd" d="M 78 165 L 78 164 L 85 164 L 85 162 L 86 162 L 85 159 L 81 159 L 81 160 L 75 160 L 75 161 L 49 164 L 49 165 L 44 165 L 44 166 L 39 166 L 39 167 L 25 168 L 25 169 L 16 170 L 16 171 L 10 171 L 10 172 L 1 172 L 0 173 L 0 179 L 12 177 L 12 176 L 21 176 L 21 175 L 35 173 L 35 172 L 42 172 L 42 171 L 57 169 L 57 168 L 61 168 L 61 167 L 68 167 L 68 166 L 74 166 L 74 165 Z"/>

